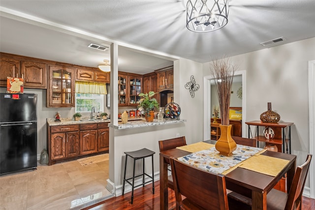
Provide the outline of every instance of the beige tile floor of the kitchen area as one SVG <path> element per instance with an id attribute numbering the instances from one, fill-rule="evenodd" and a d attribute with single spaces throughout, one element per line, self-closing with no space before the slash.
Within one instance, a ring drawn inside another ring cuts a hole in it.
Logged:
<path id="1" fill-rule="evenodd" d="M 94 157 L 105 161 L 38 162 L 37 170 L 1 176 L 0 210 L 74 210 L 112 197 L 106 189 L 108 154 Z"/>

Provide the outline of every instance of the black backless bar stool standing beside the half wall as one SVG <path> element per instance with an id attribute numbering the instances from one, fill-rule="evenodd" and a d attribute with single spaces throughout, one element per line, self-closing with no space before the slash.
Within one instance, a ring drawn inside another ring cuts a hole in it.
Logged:
<path id="1" fill-rule="evenodd" d="M 153 167 L 153 155 L 156 153 L 154 151 L 151 151 L 151 150 L 148 150 L 146 148 L 143 148 L 141 150 L 136 150 L 136 151 L 125 151 L 124 152 L 126 154 L 126 162 L 125 162 L 125 172 L 124 172 L 124 183 L 123 183 L 123 195 L 124 195 L 124 192 L 125 192 L 125 181 L 131 185 L 131 188 L 132 188 L 132 193 L 131 193 L 131 204 L 133 203 L 133 189 L 135 187 L 138 187 L 140 185 L 142 185 L 144 187 L 144 184 L 146 183 L 149 183 L 150 181 L 152 181 L 152 191 L 153 191 L 153 194 L 154 194 L 154 167 Z M 126 168 L 127 168 L 127 157 L 131 157 L 133 158 L 133 174 L 132 174 L 132 177 L 131 178 L 128 178 L 126 179 Z M 151 156 L 152 157 L 152 176 L 148 175 L 145 173 L 144 171 L 144 158 L 146 157 L 149 157 Z M 142 174 L 140 175 L 137 175 L 135 176 L 134 173 L 135 173 L 135 164 L 136 164 L 136 160 L 139 160 L 139 159 L 143 159 L 143 171 L 142 171 Z M 148 181 L 144 181 L 144 175 L 148 176 L 149 178 L 151 178 L 151 180 L 148 180 Z M 138 184 L 136 186 L 134 186 L 134 178 L 136 177 L 140 177 L 142 176 L 142 183 L 141 184 Z M 132 183 L 129 181 L 132 179 Z"/>

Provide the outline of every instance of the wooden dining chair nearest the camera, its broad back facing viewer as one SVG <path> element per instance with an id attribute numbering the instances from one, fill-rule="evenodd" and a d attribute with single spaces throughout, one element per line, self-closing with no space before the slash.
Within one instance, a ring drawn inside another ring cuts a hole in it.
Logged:
<path id="1" fill-rule="evenodd" d="M 171 157 L 176 210 L 228 210 L 225 177 Z M 182 195 L 185 196 L 182 199 Z"/>

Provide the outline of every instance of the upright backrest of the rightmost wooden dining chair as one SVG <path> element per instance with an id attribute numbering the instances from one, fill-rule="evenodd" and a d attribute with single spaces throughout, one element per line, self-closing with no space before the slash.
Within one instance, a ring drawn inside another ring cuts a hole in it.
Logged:
<path id="1" fill-rule="evenodd" d="M 309 172 L 311 159 L 312 154 L 308 154 L 306 162 L 296 168 L 292 185 L 286 201 L 285 210 L 295 210 L 299 209 L 299 207 L 301 206 L 303 189 L 307 174 Z"/>

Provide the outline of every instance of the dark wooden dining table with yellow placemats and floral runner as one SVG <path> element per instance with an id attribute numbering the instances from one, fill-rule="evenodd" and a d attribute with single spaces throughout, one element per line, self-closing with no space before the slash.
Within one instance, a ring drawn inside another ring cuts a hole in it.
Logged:
<path id="1" fill-rule="evenodd" d="M 208 140 L 205 143 L 215 144 L 216 141 Z M 191 154 L 179 148 L 161 151 L 159 153 L 160 171 L 160 210 L 168 210 L 168 165 L 169 158 L 180 158 Z M 270 150 L 263 151 L 260 155 L 287 160 L 287 164 L 275 176 L 266 175 L 254 170 L 236 167 L 225 174 L 226 188 L 252 199 L 252 210 L 267 210 L 267 194 L 281 180 L 286 177 L 286 189 L 289 190 L 296 169 L 296 155 Z M 210 205 L 210 204 L 209 204 Z"/>

